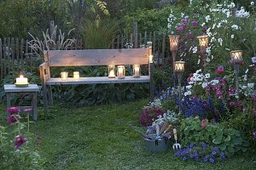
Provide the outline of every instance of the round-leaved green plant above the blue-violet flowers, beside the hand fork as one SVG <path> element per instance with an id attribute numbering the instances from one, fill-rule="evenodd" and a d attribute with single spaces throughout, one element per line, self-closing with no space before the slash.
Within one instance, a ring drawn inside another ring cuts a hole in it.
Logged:
<path id="1" fill-rule="evenodd" d="M 183 119 L 179 127 L 183 144 L 206 142 L 218 146 L 227 156 L 247 151 L 249 143 L 244 133 L 228 127 L 225 122 L 220 124 L 206 123 L 207 126 L 203 128 L 198 117 Z"/>

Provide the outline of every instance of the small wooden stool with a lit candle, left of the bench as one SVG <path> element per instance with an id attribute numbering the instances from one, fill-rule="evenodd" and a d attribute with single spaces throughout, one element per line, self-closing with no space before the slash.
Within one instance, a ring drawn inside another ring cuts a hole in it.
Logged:
<path id="1" fill-rule="evenodd" d="M 7 97 L 7 108 L 10 105 L 10 97 L 11 94 L 29 94 L 32 95 L 32 111 L 33 111 L 33 120 L 38 120 L 38 112 L 37 112 L 37 93 L 39 91 L 37 84 L 29 84 L 26 88 L 17 88 L 14 84 L 5 84 L 4 85 L 4 92 Z"/>

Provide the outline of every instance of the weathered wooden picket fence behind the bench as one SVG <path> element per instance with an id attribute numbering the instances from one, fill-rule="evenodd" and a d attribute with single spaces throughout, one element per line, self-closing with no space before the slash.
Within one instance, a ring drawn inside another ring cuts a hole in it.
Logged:
<path id="1" fill-rule="evenodd" d="M 165 67 L 170 58 L 167 35 L 147 31 L 121 34 L 114 39 L 111 48 L 143 48 L 149 41 L 152 42 L 154 62 L 157 66 Z M 38 71 L 39 65 L 35 63 L 37 56 L 32 54 L 28 42 L 29 40 L 14 37 L 0 38 L 0 80 L 17 71 L 24 71 L 25 68 L 26 71 Z M 69 49 L 84 49 L 84 43 L 79 39 Z"/>

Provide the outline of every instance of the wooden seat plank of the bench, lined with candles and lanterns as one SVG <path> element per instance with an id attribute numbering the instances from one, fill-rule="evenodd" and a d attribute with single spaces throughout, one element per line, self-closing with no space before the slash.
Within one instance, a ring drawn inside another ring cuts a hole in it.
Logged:
<path id="1" fill-rule="evenodd" d="M 149 82 L 149 76 L 141 76 L 140 78 L 125 77 L 124 79 L 108 78 L 108 77 L 80 77 L 78 80 L 67 78 L 62 81 L 61 78 L 50 78 L 47 85 L 64 85 L 64 84 L 106 84 L 106 83 L 125 83 L 125 82 Z"/>

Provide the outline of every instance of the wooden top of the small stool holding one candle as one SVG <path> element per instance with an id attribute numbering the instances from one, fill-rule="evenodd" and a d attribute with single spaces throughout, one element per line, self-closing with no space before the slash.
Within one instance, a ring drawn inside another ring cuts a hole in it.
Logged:
<path id="1" fill-rule="evenodd" d="M 39 88 L 37 84 L 29 84 L 26 88 L 17 88 L 15 84 L 4 84 L 4 92 L 38 92 Z"/>

